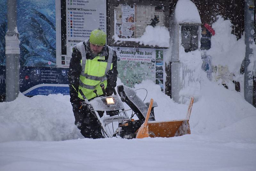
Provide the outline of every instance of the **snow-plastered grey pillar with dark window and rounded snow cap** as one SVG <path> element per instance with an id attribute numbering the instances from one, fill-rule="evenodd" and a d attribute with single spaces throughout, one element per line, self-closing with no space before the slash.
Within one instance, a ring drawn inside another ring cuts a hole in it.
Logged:
<path id="1" fill-rule="evenodd" d="M 179 0 L 170 18 L 171 88 L 172 99 L 177 103 L 186 104 L 191 96 L 196 101 L 199 96 L 201 24 L 196 5 Z"/>

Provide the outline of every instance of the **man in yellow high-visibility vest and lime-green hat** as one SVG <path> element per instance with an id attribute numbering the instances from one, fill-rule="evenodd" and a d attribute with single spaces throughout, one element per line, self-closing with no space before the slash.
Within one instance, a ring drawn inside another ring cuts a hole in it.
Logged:
<path id="1" fill-rule="evenodd" d="M 89 40 L 73 48 L 68 80 L 70 102 L 75 125 L 85 138 L 103 138 L 97 117 L 88 106 L 82 106 L 83 94 L 87 100 L 98 96 L 111 96 L 116 87 L 117 56 L 106 45 L 106 33 L 100 29 L 91 32 Z M 80 93 L 82 90 L 82 94 Z M 103 113 L 99 113 L 100 117 Z"/>

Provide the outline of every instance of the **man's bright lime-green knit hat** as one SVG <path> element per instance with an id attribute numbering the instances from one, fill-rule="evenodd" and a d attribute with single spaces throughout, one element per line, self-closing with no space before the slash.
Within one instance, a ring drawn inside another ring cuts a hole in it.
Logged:
<path id="1" fill-rule="evenodd" d="M 91 32 L 89 42 L 92 44 L 104 46 L 106 44 L 106 38 L 107 35 L 104 31 L 100 29 L 95 29 Z"/>

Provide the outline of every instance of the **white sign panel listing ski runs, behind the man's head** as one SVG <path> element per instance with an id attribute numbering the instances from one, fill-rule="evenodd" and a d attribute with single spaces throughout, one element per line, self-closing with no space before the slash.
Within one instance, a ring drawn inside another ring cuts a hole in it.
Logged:
<path id="1" fill-rule="evenodd" d="M 72 48 L 79 42 L 89 39 L 90 33 L 96 28 L 106 32 L 106 0 L 66 0 L 64 2 L 66 11 L 66 25 L 63 27 L 63 21 L 59 22 L 60 32 L 59 45 L 56 45 L 56 56 L 58 67 L 69 67 L 69 61 L 72 55 Z M 59 15 L 63 18 L 63 2 L 58 6 Z M 56 2 L 57 8 L 57 2 Z M 56 9 L 57 11 L 57 9 Z M 57 12 L 56 12 L 57 18 Z M 63 30 L 65 35 L 63 35 Z M 58 40 L 57 38 L 57 40 Z M 63 41 L 63 40 L 66 41 Z M 58 41 L 57 41 L 58 42 Z M 63 52 L 64 43 L 66 43 L 66 54 Z"/>

